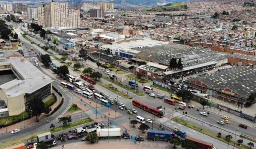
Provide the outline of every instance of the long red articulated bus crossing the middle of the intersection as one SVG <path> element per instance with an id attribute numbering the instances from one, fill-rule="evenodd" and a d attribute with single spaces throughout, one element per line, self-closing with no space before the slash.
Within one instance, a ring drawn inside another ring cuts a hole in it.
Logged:
<path id="1" fill-rule="evenodd" d="M 145 110 L 145 111 L 147 111 L 147 112 L 149 112 L 149 113 L 151 113 L 153 115 L 156 115 L 158 117 L 164 117 L 164 113 L 162 111 L 160 111 L 159 109 L 150 107 L 149 105 L 146 105 L 146 104 L 144 104 L 144 103 L 142 103 L 142 102 L 140 102 L 140 101 L 138 101 L 136 99 L 134 99 L 132 101 L 132 105 L 134 105 L 134 106 L 136 106 L 138 108 L 141 108 L 141 109 L 143 109 L 143 110 Z"/>

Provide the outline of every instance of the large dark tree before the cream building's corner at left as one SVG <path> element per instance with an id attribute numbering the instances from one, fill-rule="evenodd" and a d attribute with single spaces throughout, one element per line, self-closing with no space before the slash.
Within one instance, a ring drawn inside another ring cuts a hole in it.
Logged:
<path id="1" fill-rule="evenodd" d="M 45 103 L 43 103 L 42 98 L 37 96 L 31 97 L 29 101 L 29 110 L 36 116 L 36 121 L 39 121 L 38 117 L 45 112 Z"/>

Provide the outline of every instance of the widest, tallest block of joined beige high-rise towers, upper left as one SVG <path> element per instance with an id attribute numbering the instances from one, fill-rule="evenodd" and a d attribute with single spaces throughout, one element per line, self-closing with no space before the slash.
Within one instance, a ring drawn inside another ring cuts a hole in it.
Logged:
<path id="1" fill-rule="evenodd" d="M 51 2 L 50 5 L 40 7 L 40 10 L 38 8 L 38 24 L 43 27 L 78 28 L 79 21 L 80 10 L 69 9 L 68 3 Z"/>

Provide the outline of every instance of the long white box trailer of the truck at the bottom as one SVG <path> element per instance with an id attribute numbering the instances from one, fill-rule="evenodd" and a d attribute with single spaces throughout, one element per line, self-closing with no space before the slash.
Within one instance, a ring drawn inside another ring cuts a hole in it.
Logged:
<path id="1" fill-rule="evenodd" d="M 121 128 L 104 128 L 96 130 L 99 139 L 120 138 Z"/>

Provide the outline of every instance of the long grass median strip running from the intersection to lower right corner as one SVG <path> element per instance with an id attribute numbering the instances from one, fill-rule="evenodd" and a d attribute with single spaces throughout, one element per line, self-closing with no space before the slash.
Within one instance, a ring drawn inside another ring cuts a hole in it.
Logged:
<path id="1" fill-rule="evenodd" d="M 199 126 L 197 126 L 197 125 L 195 125 L 195 124 L 192 124 L 192 123 L 190 123 L 190 122 L 188 122 L 188 121 L 186 121 L 186 120 L 179 119 L 178 117 L 174 117 L 172 120 L 173 120 L 173 121 L 176 121 L 177 123 L 180 123 L 180 124 L 182 124 L 182 125 L 184 125 L 184 126 L 186 126 L 186 127 L 189 127 L 189 128 L 192 128 L 192 129 L 194 129 L 194 130 L 196 130 L 196 131 L 202 132 L 203 134 L 209 135 L 210 137 L 213 137 L 213 138 L 215 138 L 215 139 L 218 139 L 218 140 L 220 140 L 220 141 L 223 141 L 223 142 L 225 142 L 225 143 L 228 143 L 228 140 L 225 138 L 225 136 L 218 137 L 218 135 L 217 135 L 215 132 L 212 132 L 212 131 L 210 131 L 210 130 L 204 128 L 204 127 L 203 127 L 203 129 L 201 130 L 201 127 L 199 127 Z M 235 136 L 233 135 L 232 137 L 234 138 Z M 234 140 L 231 139 L 231 140 L 229 141 L 229 144 L 230 144 L 230 146 L 234 145 Z M 213 146 L 214 146 L 214 145 L 213 145 Z M 243 145 L 243 144 L 242 144 L 241 146 L 239 146 L 239 144 L 237 143 L 237 141 L 235 142 L 235 146 L 236 146 L 237 148 L 240 148 L 240 149 L 250 149 L 250 147 L 247 146 L 247 145 Z"/>

